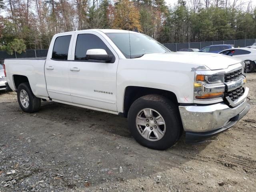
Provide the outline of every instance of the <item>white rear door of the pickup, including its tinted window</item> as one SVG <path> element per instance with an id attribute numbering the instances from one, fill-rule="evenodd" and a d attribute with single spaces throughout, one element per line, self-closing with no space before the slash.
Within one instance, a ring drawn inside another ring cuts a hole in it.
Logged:
<path id="1" fill-rule="evenodd" d="M 71 55 L 72 39 L 74 36 L 72 34 L 74 33 L 54 36 L 54 45 L 49 48 L 44 69 L 47 91 L 50 98 L 62 102 L 71 102 L 68 58 Z"/>

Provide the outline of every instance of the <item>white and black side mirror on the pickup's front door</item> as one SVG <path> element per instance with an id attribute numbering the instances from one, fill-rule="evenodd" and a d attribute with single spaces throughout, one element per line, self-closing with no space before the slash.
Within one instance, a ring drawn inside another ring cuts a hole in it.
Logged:
<path id="1" fill-rule="evenodd" d="M 110 62 L 112 60 L 113 55 L 107 54 L 104 49 L 88 49 L 86 52 L 87 60 L 98 60 Z"/>

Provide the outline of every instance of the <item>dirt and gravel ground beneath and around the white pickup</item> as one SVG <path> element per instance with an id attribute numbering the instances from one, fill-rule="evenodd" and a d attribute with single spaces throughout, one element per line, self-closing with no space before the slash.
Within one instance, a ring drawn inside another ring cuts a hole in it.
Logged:
<path id="1" fill-rule="evenodd" d="M 235 126 L 165 151 L 140 146 L 126 118 L 55 102 L 28 114 L 0 92 L 0 192 L 255 192 L 256 73 L 247 86 L 251 109 Z"/>

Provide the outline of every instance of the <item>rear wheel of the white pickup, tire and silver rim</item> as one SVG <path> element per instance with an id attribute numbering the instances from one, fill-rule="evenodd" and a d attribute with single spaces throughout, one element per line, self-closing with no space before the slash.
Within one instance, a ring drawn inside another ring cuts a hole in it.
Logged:
<path id="1" fill-rule="evenodd" d="M 41 99 L 34 96 L 29 83 L 21 83 L 17 90 L 20 108 L 26 113 L 37 112 L 41 106 Z M 23 102 L 22 101 L 26 101 Z"/>

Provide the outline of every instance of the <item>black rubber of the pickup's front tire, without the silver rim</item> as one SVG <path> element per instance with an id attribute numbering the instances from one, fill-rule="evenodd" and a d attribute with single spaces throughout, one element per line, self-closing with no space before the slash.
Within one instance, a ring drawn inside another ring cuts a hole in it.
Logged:
<path id="1" fill-rule="evenodd" d="M 166 124 L 164 136 L 157 141 L 150 141 L 144 138 L 137 129 L 137 114 L 145 108 L 151 108 L 159 112 Z M 178 106 L 173 102 L 157 94 L 142 96 L 135 100 L 128 112 L 128 125 L 132 136 L 143 146 L 148 148 L 165 150 L 173 146 L 182 135 L 182 122 Z"/>

